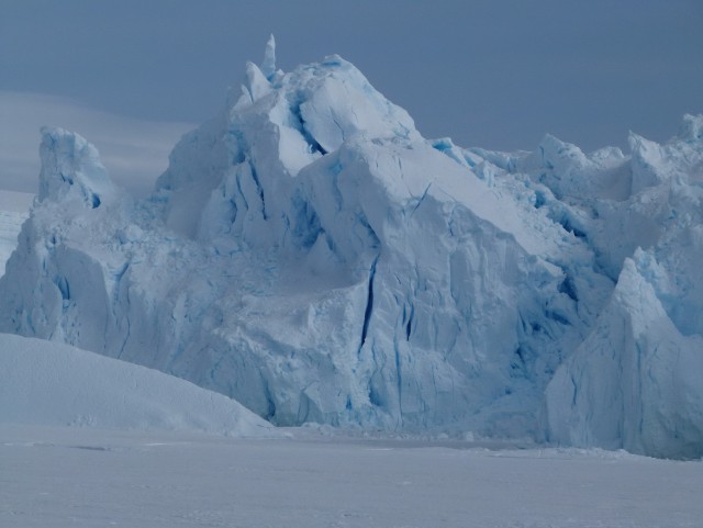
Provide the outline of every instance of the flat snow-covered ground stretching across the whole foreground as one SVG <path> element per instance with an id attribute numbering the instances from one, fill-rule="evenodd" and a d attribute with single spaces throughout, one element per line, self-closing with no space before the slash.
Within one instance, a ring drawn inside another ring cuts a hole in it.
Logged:
<path id="1" fill-rule="evenodd" d="M 701 462 L 0 426 L 0 526 L 698 528 Z"/>

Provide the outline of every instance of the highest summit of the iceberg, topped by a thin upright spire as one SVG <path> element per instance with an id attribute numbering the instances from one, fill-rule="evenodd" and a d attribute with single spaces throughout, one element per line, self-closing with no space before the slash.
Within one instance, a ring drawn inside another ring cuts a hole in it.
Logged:
<path id="1" fill-rule="evenodd" d="M 248 150 L 264 148 L 268 142 L 267 151 L 279 153 L 288 172 L 297 175 L 321 154 L 336 150 L 354 136 L 420 138 L 410 115 L 338 55 L 288 74 L 276 70 L 275 60 L 271 35 L 263 64 L 247 63 L 242 89 L 231 92 L 228 131 L 237 131 L 231 134 L 236 136 L 232 158 L 253 157 Z"/>

